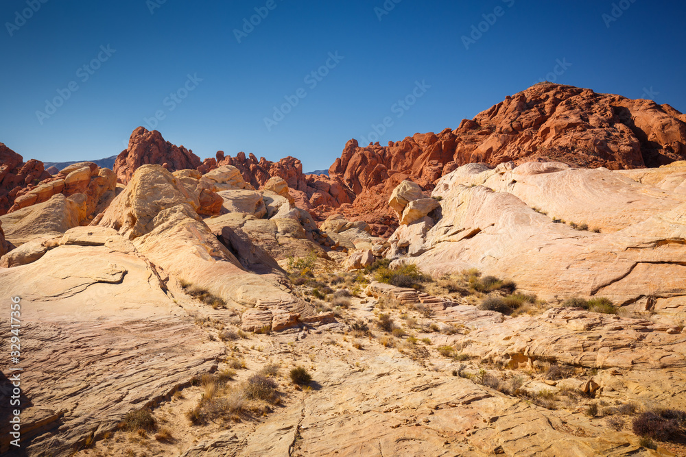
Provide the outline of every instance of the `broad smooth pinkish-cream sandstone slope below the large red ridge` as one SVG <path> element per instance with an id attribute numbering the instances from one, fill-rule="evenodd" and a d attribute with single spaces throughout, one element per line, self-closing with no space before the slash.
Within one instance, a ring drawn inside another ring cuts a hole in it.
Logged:
<path id="1" fill-rule="evenodd" d="M 669 182 L 670 171 L 683 173 L 665 166 L 654 171 L 663 175 L 657 181 Z M 546 299 L 604 296 L 685 317 L 683 194 L 619 171 L 533 162 L 494 170 L 465 165 L 443 177 L 433 195 L 442 219 L 416 232 L 415 254 L 406 260 L 421 269 L 440 275 L 476 267 Z M 602 230 L 575 230 L 559 219 Z"/>

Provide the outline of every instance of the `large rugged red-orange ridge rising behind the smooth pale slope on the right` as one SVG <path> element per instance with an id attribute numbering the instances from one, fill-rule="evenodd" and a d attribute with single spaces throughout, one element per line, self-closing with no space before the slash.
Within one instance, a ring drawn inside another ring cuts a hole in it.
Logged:
<path id="1" fill-rule="evenodd" d="M 341 214 L 356 215 L 372 226 L 388 219 L 397 225 L 387 202 L 405 179 L 431 190 L 438 178 L 467 163 L 520 164 L 536 158 L 608 169 L 683 160 L 686 115 L 650 100 L 536 84 L 454 130 L 415 134 L 383 147 L 359 147 L 350 140 L 329 175 L 356 196 Z"/>

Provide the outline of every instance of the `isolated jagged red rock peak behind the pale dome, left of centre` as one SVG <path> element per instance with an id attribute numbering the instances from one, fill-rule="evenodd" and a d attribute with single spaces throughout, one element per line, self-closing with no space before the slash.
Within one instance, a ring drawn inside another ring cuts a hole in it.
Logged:
<path id="1" fill-rule="evenodd" d="M 162 165 L 169 171 L 177 171 L 198 169 L 202 162 L 193 151 L 172 145 L 157 130 L 149 132 L 145 127 L 138 127 L 129 138 L 128 148 L 121 151 L 115 160 L 117 181 L 128 183 L 134 171 L 147 164 Z"/>

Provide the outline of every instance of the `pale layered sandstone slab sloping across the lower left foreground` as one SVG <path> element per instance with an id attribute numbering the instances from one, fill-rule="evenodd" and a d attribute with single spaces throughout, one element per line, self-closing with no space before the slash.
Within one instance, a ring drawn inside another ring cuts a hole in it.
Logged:
<path id="1" fill-rule="evenodd" d="M 102 227 L 76 227 L 38 260 L 0 269 L 0 293 L 21 297 L 16 367 L 24 369 L 27 455 L 70 455 L 88 436 L 116 430 L 127 412 L 216 366 L 224 348 L 167 297 L 165 280 L 128 240 Z M 10 321 L 0 329 L 10 334 Z M 8 421 L 0 427 L 5 452 Z"/>

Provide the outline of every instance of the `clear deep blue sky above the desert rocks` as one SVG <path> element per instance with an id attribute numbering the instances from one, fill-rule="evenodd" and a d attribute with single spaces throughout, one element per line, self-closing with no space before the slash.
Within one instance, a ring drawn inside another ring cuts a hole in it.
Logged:
<path id="1" fill-rule="evenodd" d="M 556 60 L 571 64 L 557 67 L 561 84 L 686 110 L 683 1 L 617 1 L 616 21 L 609 0 L 387 0 L 394 8 L 380 21 L 383 0 L 162 1 L 28 0 L 40 8 L 24 22 L 16 12 L 27 0 L 4 0 L 0 142 L 25 160 L 103 158 L 160 111 L 156 129 L 201 158 L 245 151 L 326 169 L 385 117 L 382 145 L 454 128 L 545 79 Z M 239 43 L 234 29 L 255 8 L 268 15 Z M 485 32 L 466 49 L 462 36 L 480 23 Z M 337 51 L 342 60 L 329 60 Z M 104 62 L 91 67 L 98 55 Z M 305 80 L 327 60 L 328 74 Z M 189 82 L 180 103 L 166 99 L 187 75 L 202 81 Z M 416 90 L 413 106 L 394 106 L 416 82 L 430 88 Z M 70 83 L 78 90 L 39 120 Z M 265 117 L 286 96 L 297 106 L 268 129 Z"/>

